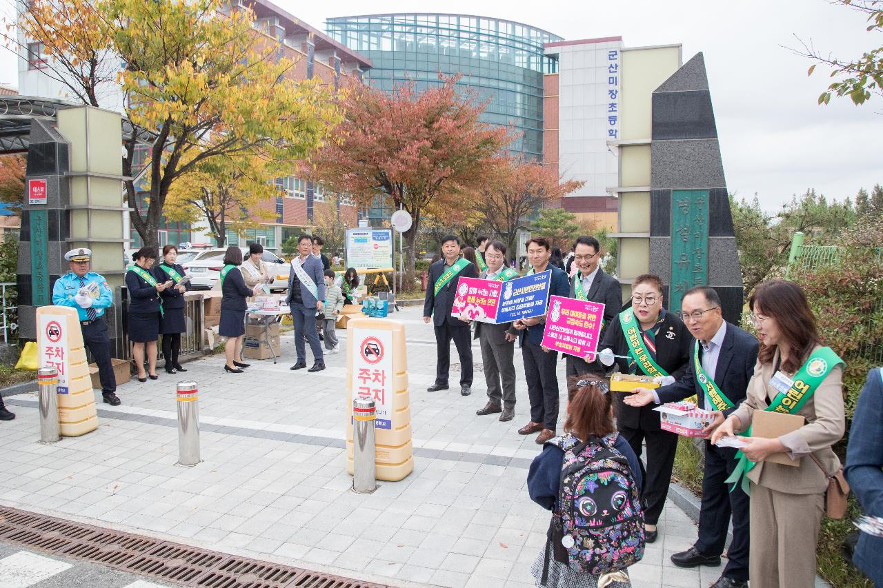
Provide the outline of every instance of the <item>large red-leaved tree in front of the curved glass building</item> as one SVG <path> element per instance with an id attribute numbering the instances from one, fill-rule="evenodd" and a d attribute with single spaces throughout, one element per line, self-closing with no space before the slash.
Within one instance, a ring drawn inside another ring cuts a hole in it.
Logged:
<path id="1" fill-rule="evenodd" d="M 485 104 L 457 88 L 458 79 L 442 78 L 440 86 L 423 91 L 413 84 L 391 93 L 353 88 L 344 100 L 338 140 L 310 162 L 314 179 L 351 194 L 359 205 L 382 195 L 411 214 L 411 229 L 404 232 L 410 272 L 423 217 L 430 211 L 454 217 L 467 207 L 513 138 L 507 128 L 479 122 Z"/>

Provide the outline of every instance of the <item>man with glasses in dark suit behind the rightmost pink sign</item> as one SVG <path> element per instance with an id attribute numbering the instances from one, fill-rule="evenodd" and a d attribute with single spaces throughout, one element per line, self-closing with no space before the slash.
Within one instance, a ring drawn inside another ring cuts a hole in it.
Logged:
<path id="1" fill-rule="evenodd" d="M 600 261 L 600 243 L 595 237 L 577 237 L 573 244 L 573 268 L 575 273 L 570 277 L 570 298 L 599 302 L 604 305 L 604 326 L 598 336 L 599 343 L 604 340 L 605 331 L 610 328 L 616 315 L 623 309 L 623 288 L 612 275 L 607 274 L 598 265 Z M 607 370 L 600 364 L 597 356 L 567 358 L 568 381 L 576 381 L 571 376 L 592 373 L 600 378 L 605 377 Z M 576 387 L 569 384 L 567 397 L 576 394 Z"/>

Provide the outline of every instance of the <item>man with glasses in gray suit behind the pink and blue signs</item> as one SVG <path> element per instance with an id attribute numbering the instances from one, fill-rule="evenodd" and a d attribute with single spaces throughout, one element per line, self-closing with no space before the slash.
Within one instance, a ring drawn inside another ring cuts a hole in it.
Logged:
<path id="1" fill-rule="evenodd" d="M 504 265 L 506 245 L 494 241 L 484 252 L 487 269 L 481 272 L 482 280 L 506 282 L 518 277 L 517 271 Z M 481 361 L 487 383 L 487 405 L 475 411 L 477 415 L 502 412 L 500 420 L 506 422 L 515 417 L 515 335 L 506 335 L 512 323 L 493 325 L 489 322 L 475 323 L 475 337 L 481 346 Z M 502 387 L 501 387 L 502 381 Z"/>

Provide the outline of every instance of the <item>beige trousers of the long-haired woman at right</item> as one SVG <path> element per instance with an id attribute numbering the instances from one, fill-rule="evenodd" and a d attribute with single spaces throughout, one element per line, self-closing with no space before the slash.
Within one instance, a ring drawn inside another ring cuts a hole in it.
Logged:
<path id="1" fill-rule="evenodd" d="M 815 585 L 824 514 L 825 494 L 785 494 L 751 482 L 751 588 Z"/>

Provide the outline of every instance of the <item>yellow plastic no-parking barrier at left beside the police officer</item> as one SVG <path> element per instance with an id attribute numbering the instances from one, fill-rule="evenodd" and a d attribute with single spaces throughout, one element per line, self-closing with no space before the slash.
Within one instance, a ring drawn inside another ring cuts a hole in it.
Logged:
<path id="1" fill-rule="evenodd" d="M 58 425 L 62 436 L 79 437 L 98 428 L 92 378 L 75 309 L 37 309 L 37 364 L 58 370 Z"/>

